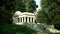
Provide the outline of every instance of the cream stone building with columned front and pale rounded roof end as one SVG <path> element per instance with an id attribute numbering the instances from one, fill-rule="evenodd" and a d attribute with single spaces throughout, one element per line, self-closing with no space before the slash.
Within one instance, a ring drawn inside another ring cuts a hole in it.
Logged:
<path id="1" fill-rule="evenodd" d="M 34 13 L 20 12 L 17 11 L 13 16 L 13 23 L 23 24 L 23 23 L 35 23 L 36 17 Z"/>

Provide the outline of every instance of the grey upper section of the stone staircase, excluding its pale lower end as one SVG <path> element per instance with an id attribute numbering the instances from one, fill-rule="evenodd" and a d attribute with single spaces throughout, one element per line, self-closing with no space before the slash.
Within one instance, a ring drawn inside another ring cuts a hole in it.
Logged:
<path id="1" fill-rule="evenodd" d="M 44 28 L 46 24 L 36 24 L 36 23 L 29 23 L 26 24 L 27 27 L 35 30 L 35 31 L 39 31 L 39 32 L 46 32 L 47 30 Z"/>

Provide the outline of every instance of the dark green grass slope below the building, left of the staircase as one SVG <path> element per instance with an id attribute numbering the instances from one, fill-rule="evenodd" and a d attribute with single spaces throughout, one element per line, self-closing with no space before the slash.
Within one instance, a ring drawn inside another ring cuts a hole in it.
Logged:
<path id="1" fill-rule="evenodd" d="M 22 25 L 0 25 L 0 34 L 33 34 L 34 30 Z"/>

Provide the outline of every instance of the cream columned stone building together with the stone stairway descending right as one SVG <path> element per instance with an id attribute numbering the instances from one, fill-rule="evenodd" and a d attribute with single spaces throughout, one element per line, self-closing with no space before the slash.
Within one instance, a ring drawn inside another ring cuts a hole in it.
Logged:
<path id="1" fill-rule="evenodd" d="M 46 23 L 35 23 L 36 16 L 34 13 L 28 12 L 20 12 L 17 11 L 13 16 L 13 23 L 17 25 L 22 25 L 24 23 L 27 27 L 38 31 L 38 32 L 52 32 L 52 33 L 59 33 L 59 30 L 54 29 L 54 25 L 47 25 Z"/>

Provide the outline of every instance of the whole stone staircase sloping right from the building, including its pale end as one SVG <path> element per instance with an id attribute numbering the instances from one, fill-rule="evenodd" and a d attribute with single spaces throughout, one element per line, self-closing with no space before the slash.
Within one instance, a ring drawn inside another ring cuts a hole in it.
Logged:
<path id="1" fill-rule="evenodd" d="M 40 23 L 40 24 L 28 23 L 28 24 L 26 24 L 26 26 L 35 30 L 35 31 L 38 31 L 38 32 L 52 32 L 52 33 L 59 33 L 60 32 L 56 29 L 52 29 L 50 27 L 47 27 L 48 25 L 45 23 Z"/>

